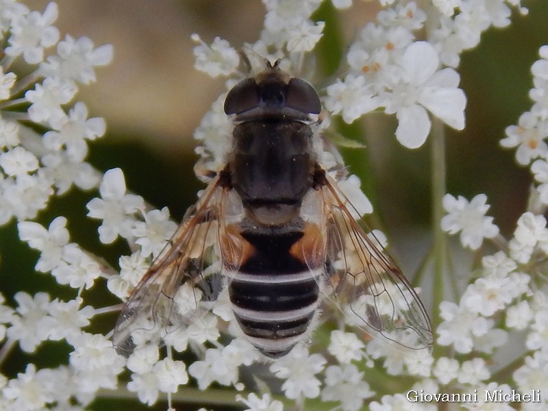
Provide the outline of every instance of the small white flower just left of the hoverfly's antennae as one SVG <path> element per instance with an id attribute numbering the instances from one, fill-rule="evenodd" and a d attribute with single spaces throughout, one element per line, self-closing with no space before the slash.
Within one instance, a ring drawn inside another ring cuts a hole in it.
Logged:
<path id="1" fill-rule="evenodd" d="M 198 44 L 192 50 L 196 58 L 195 69 L 211 77 L 231 75 L 236 71 L 240 56 L 227 40 L 216 37 L 211 46 L 206 45 L 197 34 L 192 34 L 192 40 Z"/>

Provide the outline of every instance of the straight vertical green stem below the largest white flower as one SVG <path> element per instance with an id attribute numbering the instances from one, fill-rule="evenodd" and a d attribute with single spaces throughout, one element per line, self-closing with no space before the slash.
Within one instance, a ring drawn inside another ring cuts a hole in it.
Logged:
<path id="1" fill-rule="evenodd" d="M 430 136 L 432 147 L 432 232 L 434 236 L 433 267 L 433 316 L 434 328 L 440 323 L 439 306 L 444 295 L 444 271 L 447 261 L 446 236 L 441 229 L 443 196 L 445 195 L 445 130 L 439 119 L 432 119 Z"/>

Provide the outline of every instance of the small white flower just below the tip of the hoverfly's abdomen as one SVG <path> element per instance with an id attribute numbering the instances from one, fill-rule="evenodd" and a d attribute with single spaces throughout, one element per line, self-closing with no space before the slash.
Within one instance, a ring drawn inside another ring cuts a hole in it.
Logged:
<path id="1" fill-rule="evenodd" d="M 309 355 L 305 347 L 295 347 L 287 356 L 279 358 L 270 366 L 276 377 L 284 379 L 282 390 L 286 397 L 316 398 L 320 394 L 320 381 L 315 377 L 325 366 L 320 354 Z"/>

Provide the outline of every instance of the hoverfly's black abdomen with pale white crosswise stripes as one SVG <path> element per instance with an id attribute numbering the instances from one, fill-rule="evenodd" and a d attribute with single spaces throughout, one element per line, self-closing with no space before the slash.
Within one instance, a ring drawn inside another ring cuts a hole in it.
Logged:
<path id="1" fill-rule="evenodd" d="M 265 356 L 288 353 L 306 332 L 316 312 L 319 273 L 295 256 L 304 233 L 242 232 L 252 252 L 230 280 L 229 296 L 242 331 Z"/>

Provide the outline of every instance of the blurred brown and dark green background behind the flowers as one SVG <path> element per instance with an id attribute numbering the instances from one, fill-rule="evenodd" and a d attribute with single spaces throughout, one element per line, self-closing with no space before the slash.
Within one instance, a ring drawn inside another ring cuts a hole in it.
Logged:
<path id="1" fill-rule="evenodd" d="M 25 1 L 42 11 L 48 1 Z M 121 167 L 130 190 L 159 208 L 168 206 L 175 219 L 195 201 L 202 188 L 192 172 L 196 160 L 192 132 L 210 104 L 224 90 L 222 79 L 210 79 L 193 69 L 190 34 L 197 32 L 211 42 L 221 36 L 239 47 L 254 42 L 262 28 L 264 7 L 258 0 L 60 0 L 57 27 L 61 36 L 88 36 L 95 45 L 114 45 L 110 66 L 97 69 L 98 82 L 82 87 L 77 99 L 84 101 L 90 116 L 103 116 L 107 135 L 90 145 L 89 161 L 101 171 Z M 471 199 L 488 195 L 490 215 L 503 234 L 511 234 L 525 207 L 530 184 L 528 172 L 514 161 L 514 152 L 501 149 L 504 129 L 515 124 L 530 108 L 530 66 L 538 48 L 548 44 L 548 2 L 523 2 L 528 16 L 514 12 L 506 29 L 490 29 L 481 45 L 464 53 L 461 85 L 468 97 L 466 129 L 447 130 L 447 191 Z M 347 42 L 366 21 L 374 19 L 377 2 L 356 1 L 338 14 L 338 25 Z M 413 272 L 430 244 L 429 145 L 410 151 L 393 137 L 396 124 L 382 114 L 360 125 L 367 149 L 344 149 L 351 170 L 369 175 L 362 188 L 374 200 L 382 227 L 393 244 L 393 253 L 404 271 Z M 360 171 L 361 170 L 361 171 Z M 371 175 L 372 174 L 372 175 Z M 55 199 L 40 216 L 48 225 L 58 215 L 69 218 L 72 240 L 105 256 L 114 266 L 117 256 L 127 253 L 123 242 L 104 247 L 95 239 L 97 222 L 85 218 L 86 203 L 95 193 L 72 190 Z M 13 302 L 18 290 L 34 294 L 50 288 L 56 297 L 72 298 L 66 288 L 55 288 L 48 275 L 29 274 L 38 253 L 29 251 L 16 235 L 14 223 L 0 228 L 0 291 Z M 95 306 L 116 299 L 97 290 L 86 297 Z M 98 331 L 112 328 L 114 316 L 95 324 Z M 47 345 L 48 346 L 48 345 Z M 5 375 L 24 369 L 26 362 L 55 366 L 66 349 L 45 347 L 36 356 L 14 351 L 3 364 Z M 107 408 L 110 407 L 110 408 Z M 125 408 L 127 407 L 127 408 Z M 139 408 L 141 407 L 141 408 Z M 138 403 L 97 401 L 94 410 L 147 409 Z M 158 410 L 164 410 L 160 404 Z M 193 408 L 184 408 L 192 410 Z M 217 410 L 217 408 L 214 408 Z"/>

